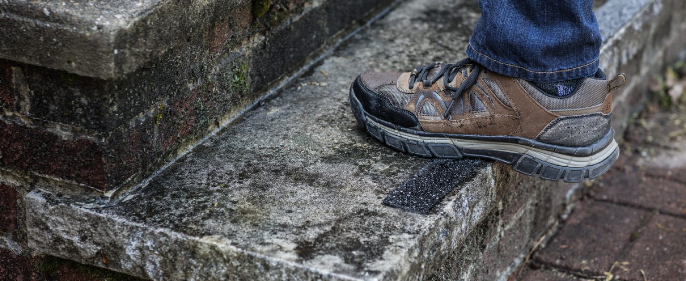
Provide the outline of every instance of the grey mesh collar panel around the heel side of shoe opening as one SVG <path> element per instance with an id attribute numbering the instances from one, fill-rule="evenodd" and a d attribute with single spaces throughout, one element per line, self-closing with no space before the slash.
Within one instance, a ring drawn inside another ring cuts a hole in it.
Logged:
<path id="1" fill-rule="evenodd" d="M 598 106 L 605 101 L 608 93 L 607 82 L 593 78 L 585 79 L 576 89 L 576 93 L 567 97 L 550 97 L 526 80 L 519 79 L 519 82 L 529 95 L 547 110 L 571 110 Z"/>

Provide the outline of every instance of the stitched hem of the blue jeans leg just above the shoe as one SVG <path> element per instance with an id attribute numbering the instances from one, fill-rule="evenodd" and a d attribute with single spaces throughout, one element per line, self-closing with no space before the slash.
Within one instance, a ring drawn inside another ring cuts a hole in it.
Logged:
<path id="1" fill-rule="evenodd" d="M 469 42 L 466 54 L 473 61 L 481 64 L 486 69 L 500 73 L 502 75 L 521 78 L 533 82 L 558 82 L 571 80 L 581 77 L 588 77 L 598 71 L 598 58 L 591 62 L 584 62 L 580 65 L 570 66 L 567 69 L 552 71 L 534 71 L 525 67 L 500 62 L 495 56 L 487 56 L 483 51 L 479 51 Z"/>

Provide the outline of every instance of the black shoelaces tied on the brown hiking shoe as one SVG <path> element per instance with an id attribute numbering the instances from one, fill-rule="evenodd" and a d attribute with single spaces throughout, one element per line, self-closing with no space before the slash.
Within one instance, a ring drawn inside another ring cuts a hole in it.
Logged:
<path id="1" fill-rule="evenodd" d="M 434 76 L 433 79 L 427 80 L 429 71 L 431 71 L 431 69 L 436 68 L 436 66 L 440 66 L 440 70 L 438 71 L 438 73 L 436 73 L 436 76 Z M 460 74 L 460 72 L 462 72 L 462 69 L 464 69 L 465 67 L 469 67 L 471 71 L 467 79 L 464 80 L 459 87 L 450 86 L 450 82 L 453 81 L 455 77 L 458 74 Z M 410 89 L 414 87 L 414 83 L 417 81 L 423 82 L 424 88 L 429 88 L 431 84 L 436 83 L 436 81 L 438 81 L 440 77 L 443 77 L 443 86 L 445 86 L 446 90 L 450 90 L 453 92 L 453 99 L 450 100 L 448 107 L 446 108 L 445 112 L 443 112 L 443 119 L 446 119 L 450 114 L 450 109 L 453 108 L 453 104 L 455 104 L 455 101 L 457 101 L 460 98 L 462 92 L 464 92 L 464 90 L 466 89 L 471 88 L 471 86 L 473 86 L 476 83 L 477 77 L 479 77 L 481 69 L 482 66 L 480 64 L 477 64 L 469 58 L 461 60 L 460 62 L 457 62 L 455 64 L 443 64 L 442 62 L 434 62 L 427 66 L 421 66 L 418 69 L 412 71 L 412 73 L 410 74 Z"/>

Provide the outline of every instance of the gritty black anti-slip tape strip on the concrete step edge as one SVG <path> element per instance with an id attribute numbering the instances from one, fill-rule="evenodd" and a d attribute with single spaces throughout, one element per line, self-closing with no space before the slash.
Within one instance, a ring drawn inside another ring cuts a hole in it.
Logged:
<path id="1" fill-rule="evenodd" d="M 477 158 L 436 159 L 383 199 L 383 204 L 428 214 L 454 188 L 477 175 L 486 161 Z"/>

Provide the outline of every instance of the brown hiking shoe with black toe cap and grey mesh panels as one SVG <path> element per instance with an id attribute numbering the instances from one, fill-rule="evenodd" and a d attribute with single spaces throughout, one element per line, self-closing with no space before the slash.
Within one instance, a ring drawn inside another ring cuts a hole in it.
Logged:
<path id="1" fill-rule="evenodd" d="M 527 175 L 580 182 L 602 175 L 619 156 L 611 127 L 617 78 L 624 84 L 623 73 L 608 81 L 599 70 L 556 97 L 467 59 L 412 73 L 366 71 L 351 85 L 350 101 L 359 125 L 395 149 L 490 158 Z"/>

